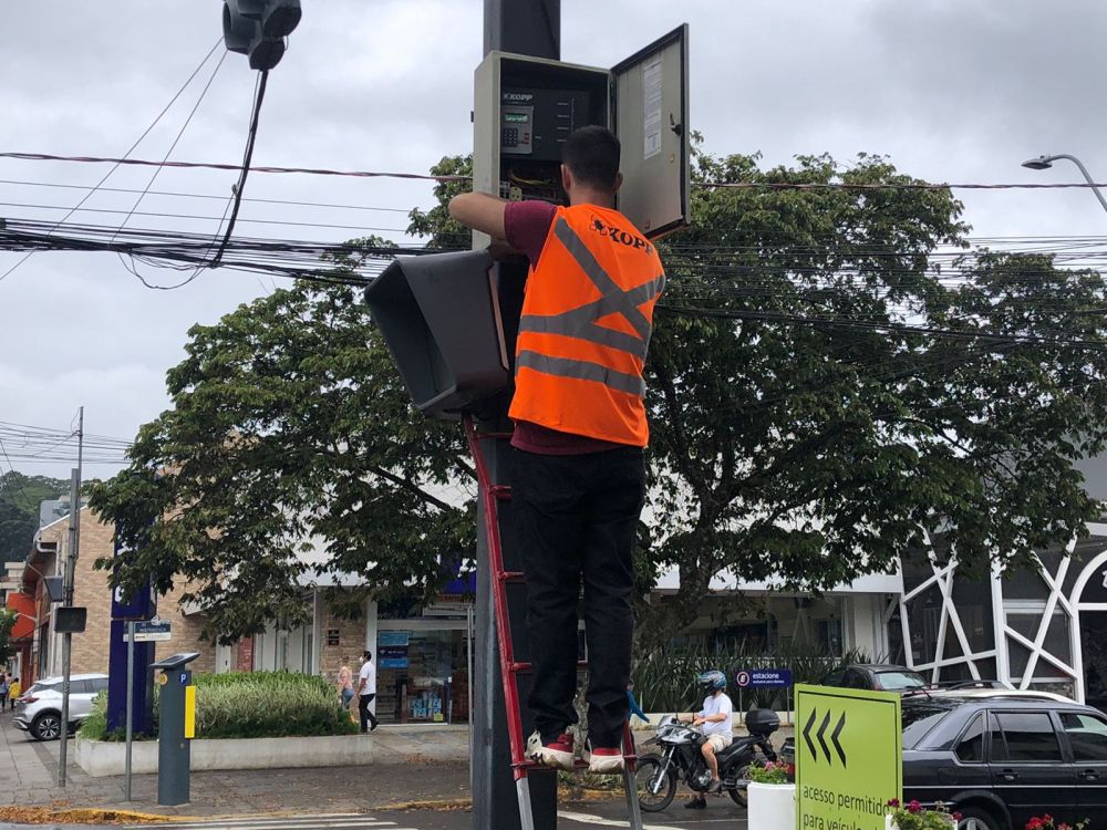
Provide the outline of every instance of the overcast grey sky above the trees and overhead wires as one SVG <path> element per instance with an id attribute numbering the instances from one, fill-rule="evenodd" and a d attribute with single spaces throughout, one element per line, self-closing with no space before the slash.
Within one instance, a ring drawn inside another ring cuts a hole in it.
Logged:
<path id="1" fill-rule="evenodd" d="M 302 0 L 303 21 L 272 72 L 255 163 L 423 173 L 472 144 L 472 72 L 480 60 L 479 0 Z M 0 19 L 0 152 L 117 156 L 221 35 L 218 0 L 35 0 Z M 1107 7 L 1090 0 L 562 0 L 562 58 L 607 66 L 681 22 L 691 27 L 693 126 L 715 153 L 761 151 L 769 164 L 829 152 L 882 153 L 931 180 L 1076 181 L 1070 165 L 1033 173 L 1042 153 L 1080 156 L 1107 179 L 1099 40 Z M 221 45 L 218 54 L 223 53 Z M 133 154 L 161 158 L 214 61 Z M 255 74 L 229 54 L 172 158 L 241 157 Z M 72 207 L 104 165 L 0 159 L 0 201 Z M 123 169 L 110 187 L 143 188 Z M 159 190 L 226 197 L 232 173 L 167 169 Z M 248 197 L 407 210 L 423 183 L 254 175 Z M 960 191 L 975 236 L 1104 235 L 1085 190 Z M 86 204 L 127 210 L 133 195 Z M 0 205 L 0 216 L 64 211 Z M 134 217 L 130 226 L 215 232 L 224 203 L 147 197 L 138 208 L 207 220 Z M 82 212 L 111 225 L 122 216 Z M 402 229 L 403 212 L 244 207 L 239 232 L 341 241 L 358 231 L 250 220 Z M 245 220 L 245 221 L 244 221 Z M 368 231 L 366 231 L 368 232 Z M 383 232 L 389 236 L 386 231 Z M 400 238 L 397 232 L 391 236 Z M 0 252 L 0 273 L 18 260 Z M 142 268 L 170 284 L 177 271 Z M 110 255 L 40 253 L 0 282 L 0 421 L 68 428 L 86 407 L 91 432 L 130 438 L 165 404 L 164 374 L 188 328 L 211 323 L 271 282 L 206 272 L 151 291 Z M 7 465 L 0 458 L 0 470 Z M 66 475 L 68 464 L 17 461 Z M 92 475 L 106 475 L 94 467 Z"/>

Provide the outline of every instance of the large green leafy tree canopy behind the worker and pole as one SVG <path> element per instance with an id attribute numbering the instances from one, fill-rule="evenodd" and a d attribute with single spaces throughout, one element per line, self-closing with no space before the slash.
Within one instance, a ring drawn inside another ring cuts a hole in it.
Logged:
<path id="1" fill-rule="evenodd" d="M 928 532 L 984 567 L 1083 530 L 1096 505 L 1073 461 L 1107 424 L 1098 273 L 935 258 L 965 247 L 962 206 L 882 157 L 697 152 L 694 178 L 734 186 L 694 189 L 692 227 L 660 246 L 639 583 L 675 569 L 681 588 L 643 604 L 645 641 L 694 619 L 720 574 L 825 590 Z M 465 186 L 441 184 L 413 231 L 461 247 L 444 205 Z M 183 573 L 234 637 L 302 616 L 304 540 L 323 570 L 422 598 L 438 557 L 472 548 L 459 429 L 414 411 L 353 289 L 301 282 L 194 328 L 168 387 L 93 492 L 133 548 L 116 581 Z"/>

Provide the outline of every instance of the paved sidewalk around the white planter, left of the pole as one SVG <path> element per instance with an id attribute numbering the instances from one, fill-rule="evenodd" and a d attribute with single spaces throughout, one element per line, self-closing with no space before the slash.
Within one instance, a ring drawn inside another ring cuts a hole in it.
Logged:
<path id="1" fill-rule="evenodd" d="M 366 740 L 397 762 L 314 769 L 193 772 L 192 802 L 157 805 L 157 776 L 134 776 L 124 801 L 123 776 L 91 778 L 73 761 L 68 786 L 58 784 L 59 743 L 33 741 L 0 715 L 0 806 L 59 805 L 128 809 L 167 816 L 268 812 L 359 812 L 405 801 L 469 797 L 467 734 L 457 729 L 382 726 Z M 452 757 L 452 760 L 428 760 Z"/>

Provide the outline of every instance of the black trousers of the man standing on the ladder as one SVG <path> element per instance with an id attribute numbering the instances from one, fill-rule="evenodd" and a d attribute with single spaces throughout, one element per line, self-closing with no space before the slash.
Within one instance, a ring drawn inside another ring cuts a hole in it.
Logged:
<path id="1" fill-rule="evenodd" d="M 527 703 L 544 741 L 577 723 L 577 603 L 583 584 L 589 740 L 593 748 L 620 746 L 644 485 L 638 447 L 588 455 L 513 453 L 511 512 L 527 578 L 534 663 Z"/>

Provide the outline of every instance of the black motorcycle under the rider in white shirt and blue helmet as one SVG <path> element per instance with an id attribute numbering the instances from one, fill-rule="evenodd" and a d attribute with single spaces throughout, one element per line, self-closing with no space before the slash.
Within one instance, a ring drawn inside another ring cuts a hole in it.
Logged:
<path id="1" fill-rule="evenodd" d="M 777 760 L 769 736 L 780 728 L 780 717 L 768 709 L 751 709 L 746 714 L 746 728 L 748 735 L 734 738 L 728 747 L 715 754 L 721 791 L 739 807 L 746 806 L 749 765 L 755 760 Z M 642 745 L 658 744 L 661 751 L 639 755 L 634 768 L 638 800 L 643 810 L 660 812 L 669 807 L 676 795 L 677 781 L 694 792 L 707 791 L 711 770 L 700 749 L 704 740 L 699 728 L 677 720 L 675 715 L 661 722 L 656 735 Z"/>

